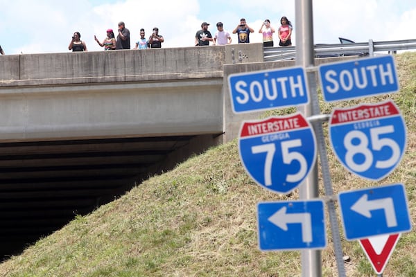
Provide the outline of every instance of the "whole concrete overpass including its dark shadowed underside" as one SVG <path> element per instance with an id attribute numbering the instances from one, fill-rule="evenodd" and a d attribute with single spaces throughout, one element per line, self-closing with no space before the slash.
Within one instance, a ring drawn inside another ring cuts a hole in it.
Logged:
<path id="1" fill-rule="evenodd" d="M 0 57 L 0 257 L 234 139 L 230 73 L 262 44 Z"/>

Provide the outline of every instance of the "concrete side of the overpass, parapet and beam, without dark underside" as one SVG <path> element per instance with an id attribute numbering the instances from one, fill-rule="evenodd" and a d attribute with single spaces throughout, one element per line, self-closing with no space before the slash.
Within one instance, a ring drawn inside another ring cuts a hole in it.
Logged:
<path id="1" fill-rule="evenodd" d="M 294 64 L 263 62 L 263 44 L 2 55 L 0 139 L 224 132 L 229 141 L 260 114 L 232 113 L 228 75 Z"/>

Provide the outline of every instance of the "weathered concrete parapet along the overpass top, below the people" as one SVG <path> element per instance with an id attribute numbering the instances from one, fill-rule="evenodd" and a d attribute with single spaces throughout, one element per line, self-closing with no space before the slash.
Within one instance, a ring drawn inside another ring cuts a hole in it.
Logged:
<path id="1" fill-rule="evenodd" d="M 262 60 L 261 44 L 3 55 L 0 87 L 222 77 L 223 64 Z"/>

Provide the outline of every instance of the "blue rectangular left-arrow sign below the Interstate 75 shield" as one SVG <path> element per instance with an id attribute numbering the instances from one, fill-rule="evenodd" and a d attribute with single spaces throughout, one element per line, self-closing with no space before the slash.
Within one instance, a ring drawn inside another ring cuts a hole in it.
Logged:
<path id="1" fill-rule="evenodd" d="M 323 249 L 327 234 L 322 200 L 257 204 L 259 249 Z"/>

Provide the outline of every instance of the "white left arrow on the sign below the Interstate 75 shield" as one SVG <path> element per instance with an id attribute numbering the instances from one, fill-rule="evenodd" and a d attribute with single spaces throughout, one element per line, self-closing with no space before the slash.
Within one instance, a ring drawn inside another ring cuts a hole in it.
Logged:
<path id="1" fill-rule="evenodd" d="M 268 221 L 284 231 L 288 231 L 288 223 L 300 223 L 302 224 L 302 241 L 312 242 L 312 222 L 310 213 L 286 213 L 286 206 L 284 206 L 269 217 Z"/>

